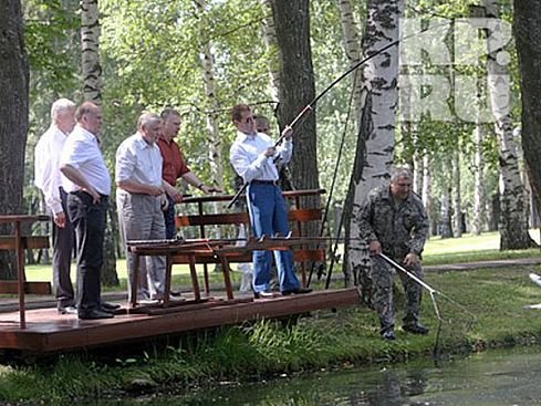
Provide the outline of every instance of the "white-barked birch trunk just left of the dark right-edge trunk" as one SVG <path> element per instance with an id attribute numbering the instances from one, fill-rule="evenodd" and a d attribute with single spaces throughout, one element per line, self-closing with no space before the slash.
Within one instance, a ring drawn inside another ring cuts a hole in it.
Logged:
<path id="1" fill-rule="evenodd" d="M 499 19 L 499 6 L 496 0 L 485 0 L 488 18 Z M 499 27 L 493 28 L 499 32 Z M 487 42 L 488 43 L 488 42 Z M 500 250 L 527 249 L 535 246 L 528 232 L 528 201 L 524 185 L 520 176 L 517 146 L 510 114 L 510 80 L 507 65 L 497 62 L 501 48 L 488 55 L 488 90 L 495 118 L 496 134 L 499 140 L 500 164 Z"/>

